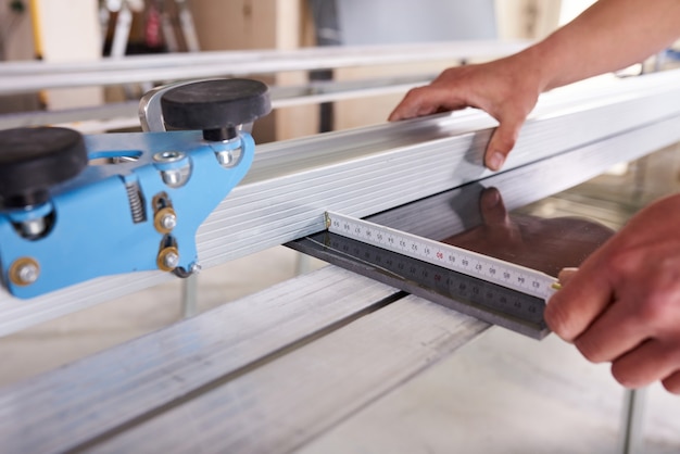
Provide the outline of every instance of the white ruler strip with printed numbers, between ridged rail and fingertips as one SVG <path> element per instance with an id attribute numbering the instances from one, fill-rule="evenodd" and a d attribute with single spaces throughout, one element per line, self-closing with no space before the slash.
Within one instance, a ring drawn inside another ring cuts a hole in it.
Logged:
<path id="1" fill-rule="evenodd" d="M 326 212 L 328 231 L 547 301 L 557 279 L 544 273 L 406 231 Z"/>

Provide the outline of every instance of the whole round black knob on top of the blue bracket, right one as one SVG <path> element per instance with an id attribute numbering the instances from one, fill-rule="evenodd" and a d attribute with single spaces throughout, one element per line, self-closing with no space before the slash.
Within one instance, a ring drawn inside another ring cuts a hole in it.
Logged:
<path id="1" fill-rule="evenodd" d="M 165 124 L 174 129 L 202 129 L 207 140 L 236 137 L 239 125 L 272 111 L 267 86 L 251 79 L 216 79 L 182 85 L 161 98 Z"/>

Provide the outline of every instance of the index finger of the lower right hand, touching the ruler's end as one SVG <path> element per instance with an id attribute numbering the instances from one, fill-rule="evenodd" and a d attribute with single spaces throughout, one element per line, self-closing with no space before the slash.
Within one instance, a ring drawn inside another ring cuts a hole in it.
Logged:
<path id="1" fill-rule="evenodd" d="M 543 314 L 545 323 L 557 336 L 572 342 L 610 304 L 612 289 L 595 252 L 550 299 Z"/>

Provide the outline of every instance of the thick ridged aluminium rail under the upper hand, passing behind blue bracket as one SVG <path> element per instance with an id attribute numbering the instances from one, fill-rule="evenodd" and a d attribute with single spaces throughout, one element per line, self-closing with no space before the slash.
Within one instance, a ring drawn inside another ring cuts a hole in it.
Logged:
<path id="1" fill-rule="evenodd" d="M 576 185 L 680 140 L 678 72 L 577 88 L 541 98 L 505 171 L 593 147 L 592 159 L 569 169 Z M 327 210 L 363 217 L 488 177 L 482 152 L 494 126 L 470 110 L 261 146 L 250 174 L 199 229 L 199 257 L 214 266 L 320 231 Z M 124 147 L 125 135 L 121 140 Z M 104 277 L 32 300 L 3 292 L 0 333 L 169 278 L 160 272 Z"/>

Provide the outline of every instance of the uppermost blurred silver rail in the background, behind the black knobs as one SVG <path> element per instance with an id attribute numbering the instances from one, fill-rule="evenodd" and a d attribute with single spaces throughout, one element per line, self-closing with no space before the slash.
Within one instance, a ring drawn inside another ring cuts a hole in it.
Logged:
<path id="1" fill-rule="evenodd" d="M 244 76 L 289 71 L 493 58 L 514 53 L 526 41 L 452 41 L 297 50 L 222 51 L 104 59 L 88 63 L 0 64 L 0 94 L 119 84 Z"/>

